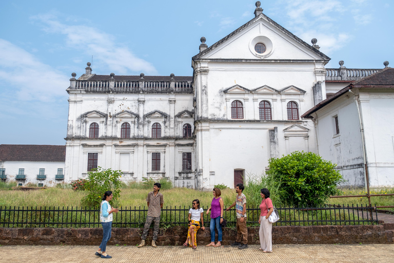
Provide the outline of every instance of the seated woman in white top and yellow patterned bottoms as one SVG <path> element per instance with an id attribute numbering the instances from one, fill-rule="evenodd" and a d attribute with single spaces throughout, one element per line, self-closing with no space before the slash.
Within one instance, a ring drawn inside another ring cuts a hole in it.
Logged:
<path id="1" fill-rule="evenodd" d="M 186 242 L 182 245 L 184 247 L 192 247 L 193 249 L 197 248 L 197 231 L 200 229 L 200 219 L 201 225 L 203 226 L 202 229 L 205 230 L 204 227 L 204 210 L 200 208 L 200 200 L 194 199 L 193 200 L 193 208 L 189 210 L 189 229 L 187 231 L 187 239 Z M 190 234 L 192 233 L 192 234 Z"/>

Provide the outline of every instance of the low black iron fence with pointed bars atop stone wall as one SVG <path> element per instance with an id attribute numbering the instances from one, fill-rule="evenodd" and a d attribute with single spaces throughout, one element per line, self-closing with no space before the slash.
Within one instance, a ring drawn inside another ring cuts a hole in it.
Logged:
<path id="1" fill-rule="evenodd" d="M 189 208 L 166 206 L 162 209 L 161 226 L 187 226 Z M 210 218 L 204 208 L 204 225 L 209 227 Z M 280 220 L 274 226 L 314 226 L 372 224 L 378 222 L 376 208 L 361 205 L 325 205 L 317 208 L 277 208 Z M 121 207 L 113 215 L 112 227 L 141 228 L 144 226 L 147 208 Z M 257 226 L 259 208 L 246 209 L 247 224 Z M 235 210 L 224 211 L 228 227 L 237 221 Z M 100 227 L 100 210 L 78 207 L 24 207 L 0 206 L 0 227 L 3 228 L 97 228 Z"/>

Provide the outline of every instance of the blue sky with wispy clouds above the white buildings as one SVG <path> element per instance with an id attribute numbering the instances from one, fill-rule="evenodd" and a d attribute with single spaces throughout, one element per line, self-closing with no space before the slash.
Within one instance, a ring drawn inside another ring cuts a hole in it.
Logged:
<path id="1" fill-rule="evenodd" d="M 261 1 L 263 13 L 331 58 L 394 65 L 391 0 Z M 0 8 L 0 144 L 65 144 L 71 73 L 191 76 L 208 46 L 251 20 L 255 1 L 9 1 Z"/>

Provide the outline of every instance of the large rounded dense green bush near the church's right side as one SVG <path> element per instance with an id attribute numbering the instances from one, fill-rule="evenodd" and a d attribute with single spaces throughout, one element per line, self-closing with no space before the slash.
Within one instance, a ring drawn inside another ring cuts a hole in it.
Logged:
<path id="1" fill-rule="evenodd" d="M 283 200 L 295 206 L 323 205 L 330 195 L 339 193 L 337 184 L 343 182 L 335 164 L 313 153 L 293 152 L 269 160 L 267 174 L 281 176 Z"/>

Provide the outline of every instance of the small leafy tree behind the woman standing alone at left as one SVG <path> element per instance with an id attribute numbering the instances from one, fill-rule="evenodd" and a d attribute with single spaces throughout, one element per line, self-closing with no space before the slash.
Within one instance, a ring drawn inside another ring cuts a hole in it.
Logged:
<path id="1" fill-rule="evenodd" d="M 89 172 L 85 182 L 85 190 L 88 195 L 82 199 L 82 205 L 98 208 L 106 191 L 111 191 L 113 198 L 111 205 L 116 206 L 121 193 L 121 171 L 113 171 L 111 168 L 99 167 Z"/>

